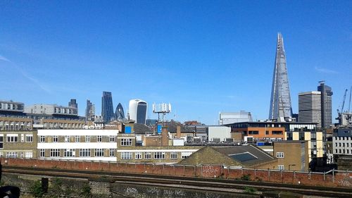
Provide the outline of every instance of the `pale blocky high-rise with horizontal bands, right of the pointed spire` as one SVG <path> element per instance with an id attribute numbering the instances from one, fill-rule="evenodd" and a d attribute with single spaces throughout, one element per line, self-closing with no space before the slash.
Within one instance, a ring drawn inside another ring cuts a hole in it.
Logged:
<path id="1" fill-rule="evenodd" d="M 298 121 L 318 123 L 322 127 L 322 102 L 320 92 L 302 92 L 298 94 Z"/>

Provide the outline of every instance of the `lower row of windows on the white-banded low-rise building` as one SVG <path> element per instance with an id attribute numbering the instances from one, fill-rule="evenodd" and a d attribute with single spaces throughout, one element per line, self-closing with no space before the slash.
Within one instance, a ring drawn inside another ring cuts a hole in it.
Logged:
<path id="1" fill-rule="evenodd" d="M 61 157 L 61 149 L 50 149 L 50 157 Z M 115 149 L 109 149 L 109 156 L 115 156 Z M 63 149 L 63 157 L 71 157 L 76 155 L 76 149 Z M 91 149 L 80 149 L 79 156 L 90 157 Z M 105 156 L 105 149 L 94 149 L 94 156 Z M 39 150 L 39 157 L 45 157 L 45 149 Z"/>

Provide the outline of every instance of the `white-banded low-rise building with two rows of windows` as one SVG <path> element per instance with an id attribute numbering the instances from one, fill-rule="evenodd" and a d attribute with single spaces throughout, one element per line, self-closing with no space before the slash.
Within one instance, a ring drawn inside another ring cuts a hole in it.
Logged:
<path id="1" fill-rule="evenodd" d="M 116 161 L 118 130 L 38 130 L 38 159 Z"/>

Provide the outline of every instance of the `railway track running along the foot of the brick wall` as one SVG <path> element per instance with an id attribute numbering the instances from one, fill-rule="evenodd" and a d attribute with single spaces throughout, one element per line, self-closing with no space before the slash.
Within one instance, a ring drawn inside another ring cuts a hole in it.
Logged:
<path id="1" fill-rule="evenodd" d="M 104 171 L 75 171 L 52 168 L 23 168 L 13 166 L 3 166 L 3 172 L 63 178 L 86 178 L 90 180 L 103 177 L 109 178 L 112 182 L 123 182 L 137 185 L 153 184 L 164 187 L 182 187 L 190 190 L 210 190 L 217 192 L 234 192 L 234 190 L 243 190 L 245 187 L 255 187 L 260 192 L 275 190 L 296 192 L 299 194 L 320 197 L 352 197 L 352 190 L 347 188 L 287 185 L 271 182 L 223 180 L 213 178 L 185 178 L 170 177 L 165 175 L 113 173 Z"/>

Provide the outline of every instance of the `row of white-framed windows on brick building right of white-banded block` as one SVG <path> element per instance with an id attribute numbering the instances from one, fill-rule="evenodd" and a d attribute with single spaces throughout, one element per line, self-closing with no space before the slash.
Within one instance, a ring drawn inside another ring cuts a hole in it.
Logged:
<path id="1" fill-rule="evenodd" d="M 132 154 L 132 152 L 121 152 L 121 159 L 133 159 Z M 182 152 L 181 158 L 185 159 L 191 154 L 191 152 Z M 165 159 L 165 152 L 134 152 L 134 159 L 142 159 L 142 156 L 144 159 L 151 159 L 152 156 L 153 159 Z M 178 159 L 178 154 L 176 151 L 170 152 L 170 159 Z"/>

